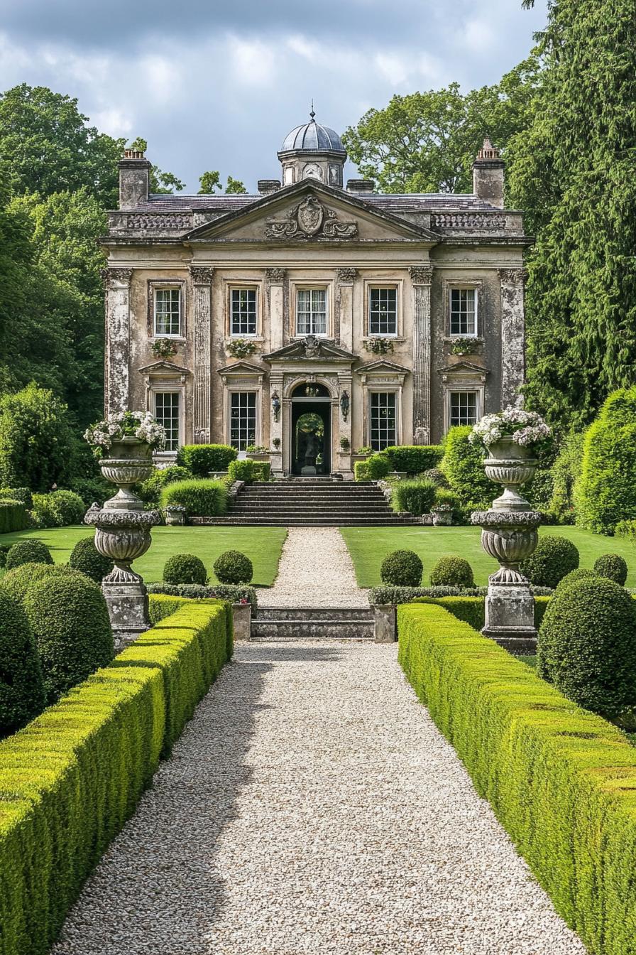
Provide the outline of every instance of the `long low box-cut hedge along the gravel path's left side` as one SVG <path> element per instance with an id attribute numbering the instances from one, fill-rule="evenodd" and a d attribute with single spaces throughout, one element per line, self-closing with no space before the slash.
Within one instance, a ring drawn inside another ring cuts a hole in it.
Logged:
<path id="1" fill-rule="evenodd" d="M 0 955 L 46 955 L 161 755 L 228 659 L 221 604 L 189 603 L 0 744 Z"/>

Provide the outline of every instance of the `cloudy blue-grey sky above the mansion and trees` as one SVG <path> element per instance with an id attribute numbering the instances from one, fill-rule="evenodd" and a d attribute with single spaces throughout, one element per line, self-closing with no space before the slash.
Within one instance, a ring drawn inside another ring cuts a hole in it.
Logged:
<path id="1" fill-rule="evenodd" d="M 0 89 L 76 96 L 190 192 L 207 169 L 256 191 L 312 97 L 341 132 L 395 93 L 496 82 L 544 18 L 545 0 L 0 0 Z"/>

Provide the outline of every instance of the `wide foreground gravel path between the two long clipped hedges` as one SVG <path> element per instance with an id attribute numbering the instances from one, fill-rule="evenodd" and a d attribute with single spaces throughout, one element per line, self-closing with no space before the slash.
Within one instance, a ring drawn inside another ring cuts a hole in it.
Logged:
<path id="1" fill-rule="evenodd" d="M 55 955 L 583 955 L 396 653 L 238 647 Z"/>

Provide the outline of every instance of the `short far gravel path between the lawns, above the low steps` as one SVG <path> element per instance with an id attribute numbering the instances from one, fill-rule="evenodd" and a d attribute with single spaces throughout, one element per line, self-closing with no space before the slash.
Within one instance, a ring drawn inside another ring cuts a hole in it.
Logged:
<path id="1" fill-rule="evenodd" d="M 258 590 L 260 606 L 369 608 L 338 527 L 290 527 L 273 587 Z"/>

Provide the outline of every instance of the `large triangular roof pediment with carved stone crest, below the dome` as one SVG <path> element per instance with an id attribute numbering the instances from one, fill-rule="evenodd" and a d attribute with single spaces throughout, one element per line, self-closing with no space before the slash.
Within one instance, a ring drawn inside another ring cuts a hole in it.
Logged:
<path id="1" fill-rule="evenodd" d="M 410 242 L 434 244 L 440 236 L 358 196 L 316 180 L 302 180 L 235 212 L 219 216 L 184 237 L 192 243 Z"/>

